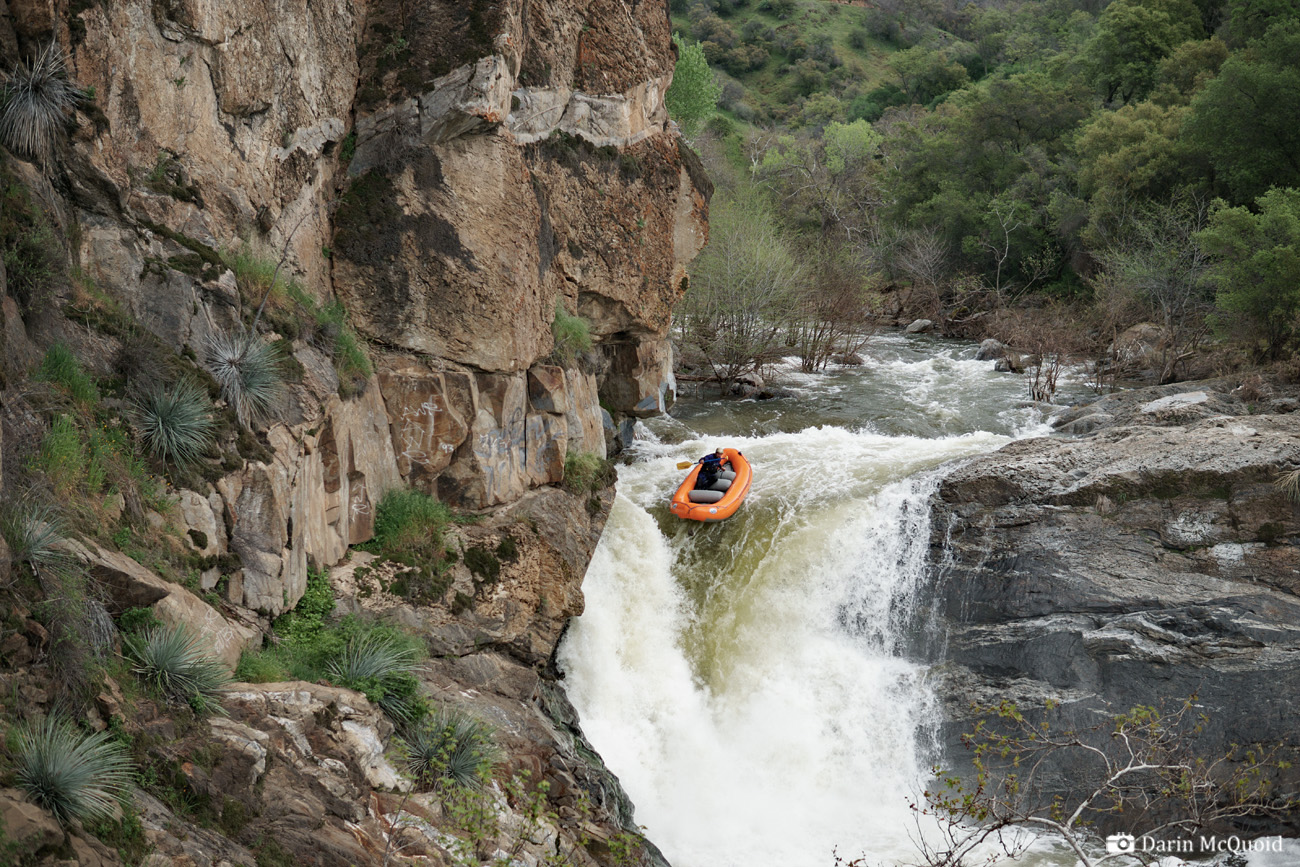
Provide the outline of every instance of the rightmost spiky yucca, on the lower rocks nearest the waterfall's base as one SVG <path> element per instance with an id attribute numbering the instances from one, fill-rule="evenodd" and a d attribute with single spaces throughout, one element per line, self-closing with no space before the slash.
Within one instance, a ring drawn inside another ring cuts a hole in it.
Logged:
<path id="1" fill-rule="evenodd" d="M 494 729 L 480 719 L 439 707 L 402 738 L 406 767 L 421 785 L 443 781 L 465 789 L 481 788 L 500 758 Z"/>

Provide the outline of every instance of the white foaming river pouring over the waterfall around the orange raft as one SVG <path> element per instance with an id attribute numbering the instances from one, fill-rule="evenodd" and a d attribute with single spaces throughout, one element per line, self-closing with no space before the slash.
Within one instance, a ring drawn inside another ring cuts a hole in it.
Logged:
<path id="1" fill-rule="evenodd" d="M 619 468 L 559 662 L 675 867 L 915 854 L 909 799 L 936 758 L 937 714 L 901 650 L 930 471 L 1044 426 L 1024 380 L 971 344 L 885 334 L 866 355 L 786 370 L 793 398 L 684 398 Z M 672 517 L 676 463 L 716 446 L 753 463 L 745 506 L 724 524 Z"/>

